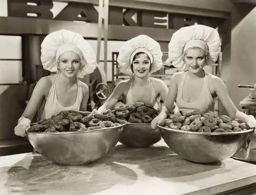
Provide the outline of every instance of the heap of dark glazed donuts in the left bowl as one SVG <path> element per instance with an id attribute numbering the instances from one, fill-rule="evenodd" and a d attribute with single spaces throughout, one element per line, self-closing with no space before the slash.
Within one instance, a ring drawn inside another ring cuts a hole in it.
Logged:
<path id="1" fill-rule="evenodd" d="M 75 132 L 104 129 L 121 125 L 121 121 L 115 117 L 111 110 L 103 114 L 92 114 L 81 111 L 61 111 L 49 119 L 41 119 L 32 123 L 27 132 Z"/>

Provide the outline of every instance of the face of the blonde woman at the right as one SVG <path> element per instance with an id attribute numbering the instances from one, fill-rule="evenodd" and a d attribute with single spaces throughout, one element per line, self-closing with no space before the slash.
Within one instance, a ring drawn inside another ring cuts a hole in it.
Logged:
<path id="1" fill-rule="evenodd" d="M 194 74 L 203 70 L 205 66 L 205 55 L 202 50 L 190 48 L 185 55 L 185 64 L 188 71 Z"/>

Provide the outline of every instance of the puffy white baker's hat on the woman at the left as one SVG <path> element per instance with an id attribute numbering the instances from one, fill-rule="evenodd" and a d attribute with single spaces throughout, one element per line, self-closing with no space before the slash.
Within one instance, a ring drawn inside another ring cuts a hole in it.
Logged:
<path id="1" fill-rule="evenodd" d="M 44 69 L 57 72 L 58 57 L 68 51 L 80 57 L 82 68 L 77 77 L 83 78 L 95 70 L 97 62 L 91 45 L 78 33 L 63 29 L 47 35 L 41 43 L 41 63 Z"/>

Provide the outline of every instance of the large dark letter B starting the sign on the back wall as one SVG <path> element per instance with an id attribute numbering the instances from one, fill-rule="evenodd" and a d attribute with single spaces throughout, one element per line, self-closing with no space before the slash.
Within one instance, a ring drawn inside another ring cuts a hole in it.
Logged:
<path id="1" fill-rule="evenodd" d="M 51 0 L 8 0 L 8 16 L 52 19 L 52 7 Z"/>

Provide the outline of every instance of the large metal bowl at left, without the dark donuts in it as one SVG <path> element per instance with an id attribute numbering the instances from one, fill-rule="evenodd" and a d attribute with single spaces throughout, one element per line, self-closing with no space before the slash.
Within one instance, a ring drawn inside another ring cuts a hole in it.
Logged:
<path id="1" fill-rule="evenodd" d="M 114 150 L 126 121 L 122 125 L 77 132 L 27 133 L 32 146 L 49 160 L 66 165 L 95 161 Z"/>

